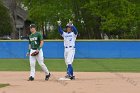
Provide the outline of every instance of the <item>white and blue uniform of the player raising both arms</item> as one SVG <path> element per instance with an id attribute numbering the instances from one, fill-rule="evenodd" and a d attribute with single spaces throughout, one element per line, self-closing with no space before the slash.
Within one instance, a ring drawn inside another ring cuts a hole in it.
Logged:
<path id="1" fill-rule="evenodd" d="M 58 31 L 64 38 L 64 58 L 67 65 L 67 74 L 73 76 L 73 59 L 75 55 L 75 41 L 78 35 L 78 31 L 75 26 L 71 26 L 71 32 L 64 32 L 61 26 L 58 27 Z"/>

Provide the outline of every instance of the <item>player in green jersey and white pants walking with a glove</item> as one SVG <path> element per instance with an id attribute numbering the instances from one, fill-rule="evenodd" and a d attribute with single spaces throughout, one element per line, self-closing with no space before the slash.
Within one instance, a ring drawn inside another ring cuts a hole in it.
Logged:
<path id="1" fill-rule="evenodd" d="M 30 25 L 31 35 L 29 35 L 29 50 L 27 55 L 29 56 L 30 60 L 30 77 L 29 81 L 33 81 L 35 77 L 35 64 L 36 60 L 38 61 L 39 65 L 41 66 L 42 70 L 45 72 L 45 80 L 49 80 L 50 72 L 46 65 L 44 64 L 44 57 L 43 57 L 43 36 L 40 32 L 36 31 L 36 25 Z"/>

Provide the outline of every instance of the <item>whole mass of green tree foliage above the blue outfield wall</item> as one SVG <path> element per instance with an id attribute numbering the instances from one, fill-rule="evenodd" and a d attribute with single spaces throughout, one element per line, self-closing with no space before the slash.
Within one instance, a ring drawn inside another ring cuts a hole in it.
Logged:
<path id="1" fill-rule="evenodd" d="M 65 27 L 69 19 L 78 28 L 80 39 L 140 38 L 139 0 L 23 0 L 29 9 L 28 19 L 35 21 L 39 30 L 47 22 L 55 27 L 48 38 L 60 38 L 57 20 Z M 82 22 L 82 20 L 84 22 Z"/>

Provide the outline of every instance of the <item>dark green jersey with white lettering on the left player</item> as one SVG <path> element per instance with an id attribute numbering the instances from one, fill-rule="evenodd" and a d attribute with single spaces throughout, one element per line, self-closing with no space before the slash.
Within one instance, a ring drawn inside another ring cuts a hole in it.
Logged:
<path id="1" fill-rule="evenodd" d="M 38 49 L 41 40 L 43 40 L 43 36 L 39 32 L 29 35 L 29 44 L 31 45 L 31 49 Z"/>

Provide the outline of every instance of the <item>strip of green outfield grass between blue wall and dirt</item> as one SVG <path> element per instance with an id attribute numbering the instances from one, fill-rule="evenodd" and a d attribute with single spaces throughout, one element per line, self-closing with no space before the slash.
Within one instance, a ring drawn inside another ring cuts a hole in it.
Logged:
<path id="1" fill-rule="evenodd" d="M 65 71 L 63 59 L 46 59 L 50 71 Z M 140 72 L 140 59 L 75 59 L 78 72 Z M 29 71 L 28 59 L 0 59 L 0 71 Z M 37 63 L 36 69 L 40 71 Z"/>

